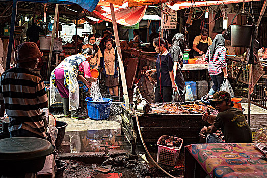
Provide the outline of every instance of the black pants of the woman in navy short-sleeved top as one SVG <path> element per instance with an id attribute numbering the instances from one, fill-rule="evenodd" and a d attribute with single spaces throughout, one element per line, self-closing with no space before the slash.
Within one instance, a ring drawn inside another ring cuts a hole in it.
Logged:
<path id="1" fill-rule="evenodd" d="M 161 88 L 156 86 L 155 102 L 156 103 L 171 102 L 172 93 L 173 93 L 172 86 L 162 86 Z"/>

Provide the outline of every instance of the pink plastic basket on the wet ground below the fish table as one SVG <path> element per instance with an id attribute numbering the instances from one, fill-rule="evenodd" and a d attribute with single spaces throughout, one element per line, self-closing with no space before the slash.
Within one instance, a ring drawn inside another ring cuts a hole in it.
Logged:
<path id="1" fill-rule="evenodd" d="M 167 146 L 159 145 L 159 142 L 161 142 L 161 140 L 165 139 L 166 137 L 169 138 L 170 136 L 163 135 L 157 141 L 157 162 L 168 165 L 168 166 L 174 166 L 176 163 L 176 160 L 179 157 L 183 140 L 181 138 L 174 137 L 174 139 L 181 140 L 181 145 L 179 149 L 172 149 Z"/>

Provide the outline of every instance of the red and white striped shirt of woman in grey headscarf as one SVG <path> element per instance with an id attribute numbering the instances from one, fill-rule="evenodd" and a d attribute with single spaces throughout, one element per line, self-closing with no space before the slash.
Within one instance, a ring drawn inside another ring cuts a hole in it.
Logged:
<path id="1" fill-rule="evenodd" d="M 210 53 L 210 47 L 208 48 L 208 51 L 205 55 L 205 60 L 208 60 L 208 74 L 211 76 L 218 75 L 222 71 L 222 68 L 226 68 L 227 63 L 225 61 L 226 59 L 226 48 L 224 46 L 219 47 L 214 52 L 213 56 L 209 55 Z"/>

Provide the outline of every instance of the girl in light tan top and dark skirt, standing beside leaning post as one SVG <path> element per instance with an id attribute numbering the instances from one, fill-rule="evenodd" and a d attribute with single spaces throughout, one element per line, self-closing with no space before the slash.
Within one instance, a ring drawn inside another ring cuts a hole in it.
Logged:
<path id="1" fill-rule="evenodd" d="M 102 69 L 105 75 L 105 86 L 109 87 L 111 95 L 119 96 L 119 68 L 118 68 L 118 54 L 114 49 L 113 40 L 107 39 L 105 42 L 106 49 L 103 50 Z"/>

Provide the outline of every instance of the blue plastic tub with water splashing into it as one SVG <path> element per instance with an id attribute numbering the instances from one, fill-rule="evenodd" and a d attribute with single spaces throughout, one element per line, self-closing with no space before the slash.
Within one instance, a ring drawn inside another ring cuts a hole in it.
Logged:
<path id="1" fill-rule="evenodd" d="M 90 97 L 85 99 L 88 117 L 93 120 L 105 120 L 109 117 L 112 99 L 103 98 L 103 100 L 104 101 L 93 101 Z"/>

